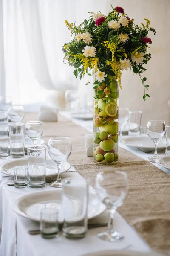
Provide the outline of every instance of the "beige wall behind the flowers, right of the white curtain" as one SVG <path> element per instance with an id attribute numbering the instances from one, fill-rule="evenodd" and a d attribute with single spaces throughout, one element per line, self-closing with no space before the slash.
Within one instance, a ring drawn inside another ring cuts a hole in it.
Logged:
<path id="1" fill-rule="evenodd" d="M 149 32 L 153 44 L 149 52 L 152 58 L 146 65 L 150 98 L 143 101 L 143 87 L 139 75 L 124 71 L 122 74 L 122 90 L 119 94 L 119 106 L 130 110 L 143 112 L 142 124 L 146 125 L 149 119 L 164 119 L 170 123 L 170 0 L 86 0 L 78 1 L 78 20 L 87 18 L 88 11 L 101 11 L 107 15 L 111 11 L 110 4 L 121 6 L 134 23 L 150 20 L 150 26 L 156 29 L 156 35 Z M 78 21 L 77 20 L 77 21 Z M 84 84 L 84 83 L 83 83 Z M 84 86 L 84 85 L 83 85 Z M 90 86 L 86 90 L 90 90 Z"/>

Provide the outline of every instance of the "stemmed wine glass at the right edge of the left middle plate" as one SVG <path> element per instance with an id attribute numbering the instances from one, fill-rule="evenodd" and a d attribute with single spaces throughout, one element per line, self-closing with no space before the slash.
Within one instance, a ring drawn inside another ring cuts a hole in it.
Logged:
<path id="1" fill-rule="evenodd" d="M 67 161 L 71 154 L 71 140 L 68 137 L 52 137 L 48 141 L 48 153 L 54 162 L 57 163 L 58 175 L 57 180 L 52 182 L 50 186 L 61 188 L 61 167 Z"/>

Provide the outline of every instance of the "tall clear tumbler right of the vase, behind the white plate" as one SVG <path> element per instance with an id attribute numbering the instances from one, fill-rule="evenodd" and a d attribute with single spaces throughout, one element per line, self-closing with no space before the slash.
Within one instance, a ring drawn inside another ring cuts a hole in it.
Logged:
<path id="1" fill-rule="evenodd" d="M 129 135 L 139 135 L 142 120 L 142 111 L 129 111 Z"/>

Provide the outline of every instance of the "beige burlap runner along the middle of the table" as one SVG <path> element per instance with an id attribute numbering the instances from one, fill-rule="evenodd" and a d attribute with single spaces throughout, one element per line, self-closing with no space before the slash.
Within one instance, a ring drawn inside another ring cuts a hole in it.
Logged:
<path id="1" fill-rule="evenodd" d="M 36 120 L 37 114 L 27 114 L 24 122 Z M 119 213 L 154 249 L 168 255 L 170 250 L 170 177 L 146 160 L 119 148 L 119 163 L 115 166 L 95 164 L 85 155 L 85 134 L 88 131 L 71 120 L 59 116 L 58 122 L 43 122 L 45 143 L 52 136 L 68 136 L 72 153 L 68 160 L 91 185 L 103 170 L 119 169 L 128 175 L 130 189 Z"/>

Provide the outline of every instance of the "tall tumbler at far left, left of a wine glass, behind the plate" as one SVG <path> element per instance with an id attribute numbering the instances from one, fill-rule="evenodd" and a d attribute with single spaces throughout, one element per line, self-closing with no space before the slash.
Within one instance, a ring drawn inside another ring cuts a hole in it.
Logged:
<path id="1" fill-rule="evenodd" d="M 24 123 L 9 123 L 9 137 L 11 143 L 11 157 L 24 157 L 26 125 Z"/>

